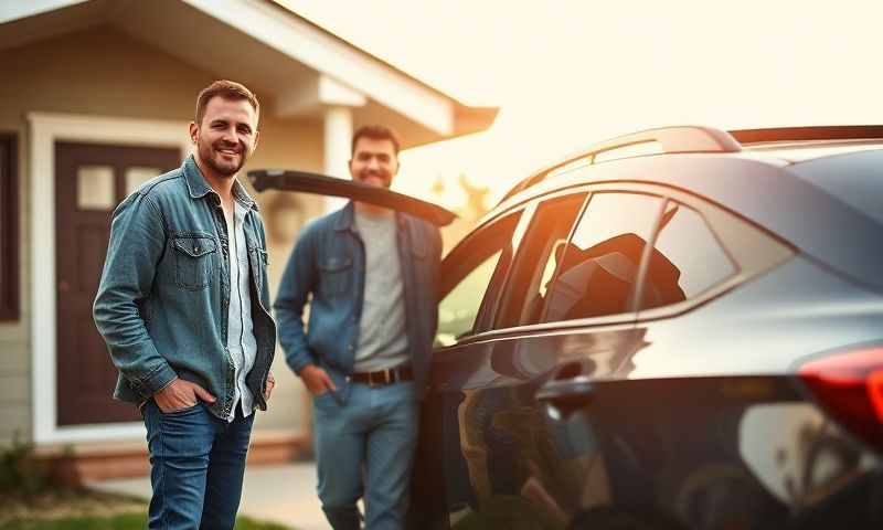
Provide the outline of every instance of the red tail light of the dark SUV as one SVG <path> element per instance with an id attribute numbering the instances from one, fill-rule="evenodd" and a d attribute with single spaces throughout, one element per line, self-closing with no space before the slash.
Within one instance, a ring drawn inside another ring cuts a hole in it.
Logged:
<path id="1" fill-rule="evenodd" d="M 883 347 L 816 359 L 798 373 L 834 418 L 883 448 Z"/>

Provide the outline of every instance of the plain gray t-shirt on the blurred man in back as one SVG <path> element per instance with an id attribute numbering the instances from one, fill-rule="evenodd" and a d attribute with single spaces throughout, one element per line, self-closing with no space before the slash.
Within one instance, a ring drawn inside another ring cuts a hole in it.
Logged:
<path id="1" fill-rule="evenodd" d="M 373 372 L 408 360 L 395 214 L 357 211 L 355 229 L 365 247 L 365 290 L 354 370 Z"/>

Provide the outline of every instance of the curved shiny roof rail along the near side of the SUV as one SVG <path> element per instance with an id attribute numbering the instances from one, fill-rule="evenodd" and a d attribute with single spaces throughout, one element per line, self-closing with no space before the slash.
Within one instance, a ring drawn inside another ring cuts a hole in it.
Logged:
<path id="1" fill-rule="evenodd" d="M 680 125 L 641 130 L 595 144 L 588 149 L 581 150 L 578 155 L 567 157 L 564 159 L 564 161 L 528 177 L 509 190 L 509 192 L 500 200 L 500 202 L 509 199 L 522 190 L 542 182 L 556 169 L 573 165 L 574 162 L 578 162 L 581 160 L 585 160 L 586 163 L 589 165 L 595 163 L 596 157 L 599 155 L 614 153 L 617 150 L 623 150 L 625 156 L 616 158 L 627 158 L 629 155 L 634 155 L 634 148 L 643 145 L 655 145 L 657 149 L 653 152 L 642 152 L 640 155 L 678 152 L 738 152 L 742 150 L 740 142 L 736 141 L 736 139 L 733 138 L 730 132 L 715 129 L 713 127 Z"/>

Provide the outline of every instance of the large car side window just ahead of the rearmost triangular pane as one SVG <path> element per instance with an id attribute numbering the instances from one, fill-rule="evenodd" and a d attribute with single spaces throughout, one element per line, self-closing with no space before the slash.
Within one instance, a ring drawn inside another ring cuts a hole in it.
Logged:
<path id="1" fill-rule="evenodd" d="M 593 193 L 573 237 L 556 250 L 542 321 L 632 311 L 641 256 L 662 203 L 648 194 Z"/>

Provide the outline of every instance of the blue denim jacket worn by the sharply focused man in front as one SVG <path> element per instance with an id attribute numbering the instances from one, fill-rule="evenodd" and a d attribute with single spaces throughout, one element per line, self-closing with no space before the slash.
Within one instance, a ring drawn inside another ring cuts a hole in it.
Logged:
<path id="1" fill-rule="evenodd" d="M 244 231 L 257 356 L 246 385 L 255 404 L 266 410 L 264 388 L 276 325 L 267 310 L 264 224 L 257 204 L 238 182 L 233 195 L 248 209 Z M 230 415 L 235 404 L 235 365 L 226 348 L 228 256 L 221 197 L 192 156 L 117 206 L 93 307 L 95 325 L 119 370 L 116 399 L 141 402 L 178 377 L 217 399 L 206 404 L 212 414 Z"/>

